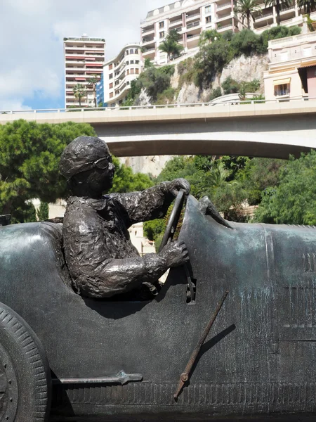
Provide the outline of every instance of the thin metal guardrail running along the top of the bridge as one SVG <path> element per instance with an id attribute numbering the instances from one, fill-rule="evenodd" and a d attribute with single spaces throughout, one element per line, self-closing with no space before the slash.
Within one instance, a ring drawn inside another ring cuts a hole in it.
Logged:
<path id="1" fill-rule="evenodd" d="M 276 98 L 275 100 L 256 100 L 254 98 L 245 101 L 232 100 L 225 103 L 189 103 L 189 104 L 162 104 L 153 106 L 126 106 L 126 107 L 78 107 L 78 108 L 43 108 L 40 110 L 0 110 L 0 115 L 16 113 L 71 113 L 74 111 L 112 111 L 112 110 L 152 110 L 156 108 L 187 108 L 187 107 L 218 107 L 218 106 L 239 106 L 242 104 L 275 104 L 275 103 L 294 103 L 301 101 L 316 101 L 316 97 L 297 97 L 297 98 Z"/>

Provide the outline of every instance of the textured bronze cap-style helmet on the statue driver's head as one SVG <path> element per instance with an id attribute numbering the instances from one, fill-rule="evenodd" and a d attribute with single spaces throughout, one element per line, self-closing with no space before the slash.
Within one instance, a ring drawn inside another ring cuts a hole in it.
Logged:
<path id="1" fill-rule="evenodd" d="M 101 158 L 110 158 L 107 144 L 93 136 L 79 136 L 66 146 L 60 157 L 60 173 L 67 180 L 74 174 L 92 170 Z"/>

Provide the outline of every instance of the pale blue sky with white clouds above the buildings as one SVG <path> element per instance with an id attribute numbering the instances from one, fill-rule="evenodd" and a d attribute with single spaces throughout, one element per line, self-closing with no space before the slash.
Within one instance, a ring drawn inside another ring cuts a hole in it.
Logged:
<path id="1" fill-rule="evenodd" d="M 105 58 L 140 41 L 147 11 L 172 0 L 0 0 L 0 111 L 64 108 L 63 38 L 105 38 Z"/>

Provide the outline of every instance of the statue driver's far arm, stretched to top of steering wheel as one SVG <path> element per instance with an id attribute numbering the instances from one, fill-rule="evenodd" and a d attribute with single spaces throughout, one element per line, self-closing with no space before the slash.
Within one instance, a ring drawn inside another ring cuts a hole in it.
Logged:
<path id="1" fill-rule="evenodd" d="M 162 218 L 180 189 L 185 194 L 190 193 L 190 184 L 185 179 L 164 181 L 157 186 L 141 192 L 112 193 L 110 196 L 117 200 L 129 216 L 128 226 L 150 219 Z"/>

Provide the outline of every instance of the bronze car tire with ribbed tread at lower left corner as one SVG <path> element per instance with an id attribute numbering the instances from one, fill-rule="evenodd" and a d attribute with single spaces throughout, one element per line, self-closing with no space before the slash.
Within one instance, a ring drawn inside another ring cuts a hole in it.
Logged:
<path id="1" fill-rule="evenodd" d="M 46 422 L 51 373 L 32 328 L 0 302 L 0 421 Z"/>

